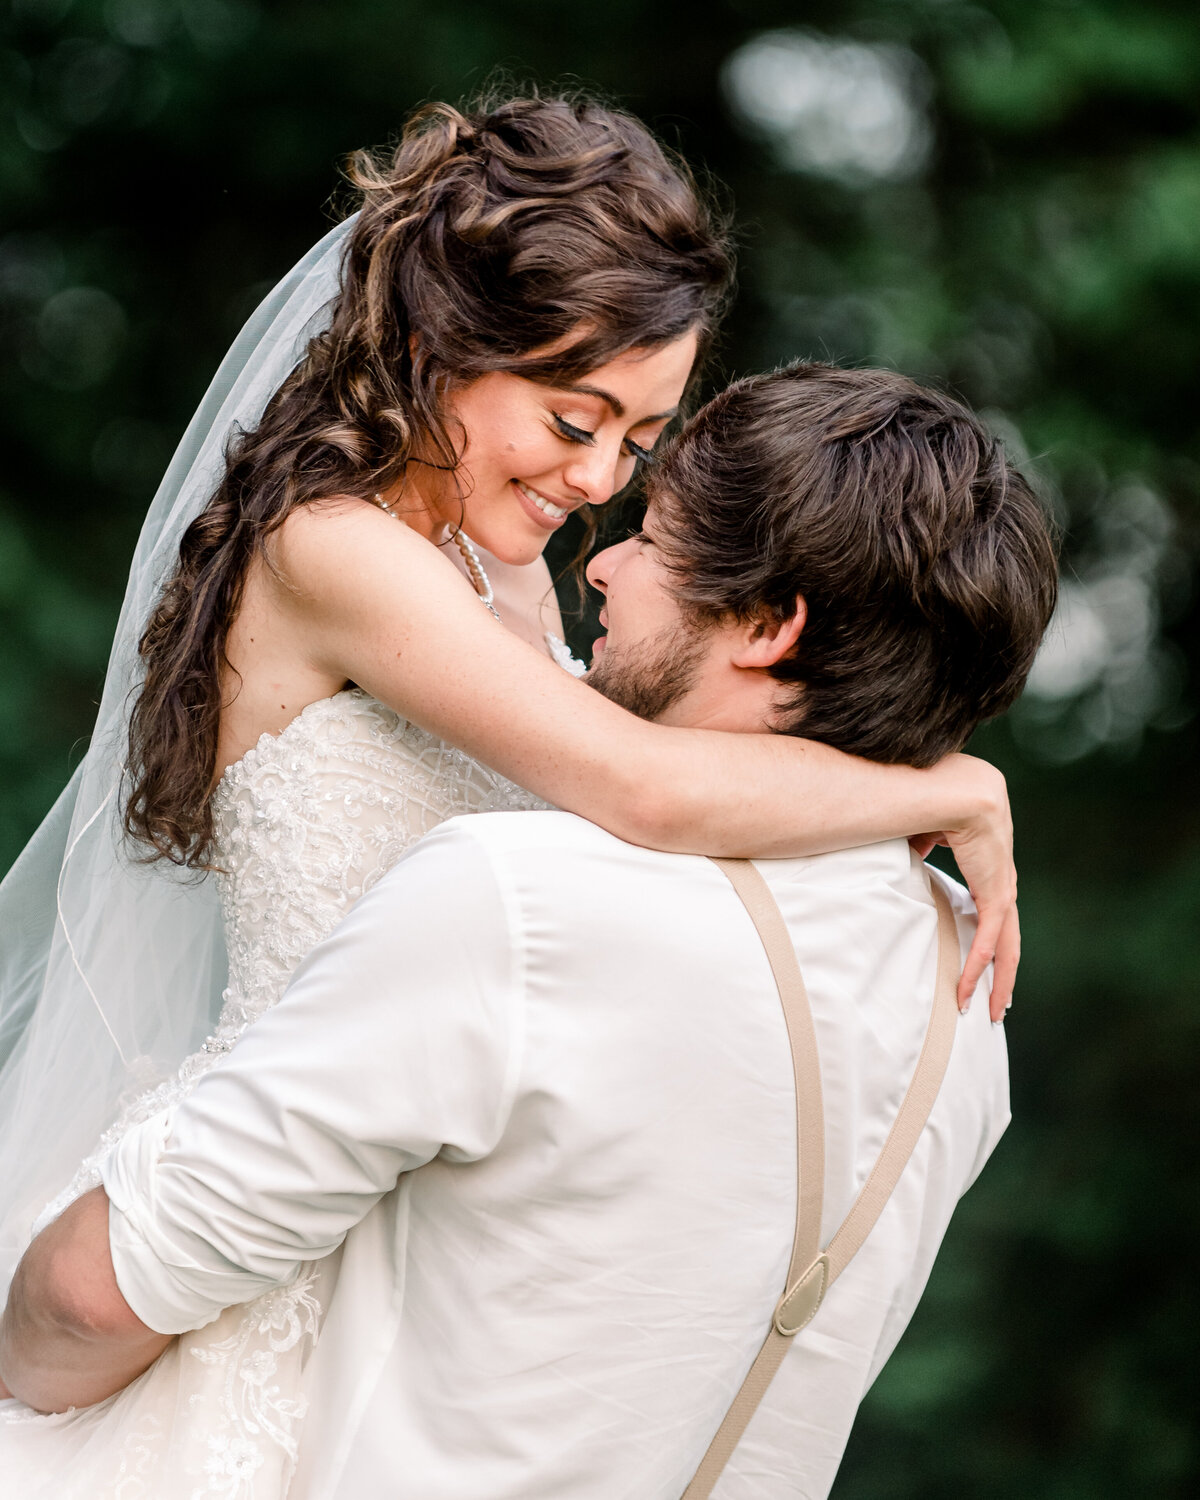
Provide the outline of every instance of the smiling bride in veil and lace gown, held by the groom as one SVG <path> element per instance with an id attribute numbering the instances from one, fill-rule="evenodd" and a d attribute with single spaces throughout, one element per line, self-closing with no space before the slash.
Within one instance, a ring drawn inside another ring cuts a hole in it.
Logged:
<path id="1" fill-rule="evenodd" d="M 354 176 L 358 214 L 260 308 L 183 438 L 88 756 L 0 888 L 4 1282 L 122 1131 L 456 813 L 544 798 L 764 856 L 936 830 L 981 909 L 962 994 L 993 952 L 993 1016 L 1011 990 L 992 768 L 666 729 L 573 680 L 542 550 L 650 459 L 728 294 L 682 166 L 628 116 L 531 98 L 429 105 Z M 6 1492 L 282 1496 L 334 1258 L 106 1401 L 0 1402 Z"/>

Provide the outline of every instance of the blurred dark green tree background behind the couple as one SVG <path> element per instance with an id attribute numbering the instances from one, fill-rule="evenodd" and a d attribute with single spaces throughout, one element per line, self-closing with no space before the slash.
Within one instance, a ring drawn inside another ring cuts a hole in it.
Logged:
<path id="1" fill-rule="evenodd" d="M 987 414 L 1065 536 L 975 742 L 1018 828 L 1014 1125 L 836 1497 L 1196 1494 L 1194 0 L 6 0 L 0 48 L 0 868 L 226 344 L 423 99 L 578 78 L 726 184 L 710 386 L 882 363 Z"/>

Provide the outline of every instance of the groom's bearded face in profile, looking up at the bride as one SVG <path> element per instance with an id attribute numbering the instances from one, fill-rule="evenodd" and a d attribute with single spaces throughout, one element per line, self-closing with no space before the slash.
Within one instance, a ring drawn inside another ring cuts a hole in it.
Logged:
<path id="1" fill-rule="evenodd" d="M 588 582 L 604 596 L 586 681 L 639 718 L 687 723 L 686 699 L 706 660 L 711 633 L 692 622 L 670 591 L 654 538 L 654 510 L 627 542 L 597 552 Z"/>

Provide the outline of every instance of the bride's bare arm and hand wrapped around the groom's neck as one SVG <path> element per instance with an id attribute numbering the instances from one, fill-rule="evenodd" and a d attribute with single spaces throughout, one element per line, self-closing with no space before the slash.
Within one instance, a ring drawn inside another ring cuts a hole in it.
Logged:
<path id="1" fill-rule="evenodd" d="M 994 956 L 1002 1014 L 1016 872 L 993 766 L 963 754 L 878 765 L 789 735 L 646 723 L 498 627 L 446 556 L 370 506 L 294 513 L 274 562 L 279 608 L 322 674 L 630 843 L 770 858 L 942 834 L 980 909 L 960 999 Z"/>

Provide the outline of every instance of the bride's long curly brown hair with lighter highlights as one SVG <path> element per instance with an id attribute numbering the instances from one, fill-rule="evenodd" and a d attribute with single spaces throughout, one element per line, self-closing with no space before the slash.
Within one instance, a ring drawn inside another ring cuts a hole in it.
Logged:
<path id="1" fill-rule="evenodd" d="M 362 207 L 333 321 L 231 440 L 141 638 L 123 818 L 150 860 L 208 866 L 225 644 L 291 510 L 369 498 L 414 450 L 454 468 L 446 396 L 490 370 L 570 384 L 690 330 L 704 351 L 729 294 L 723 216 L 640 122 L 586 94 L 424 105 L 348 176 Z"/>

